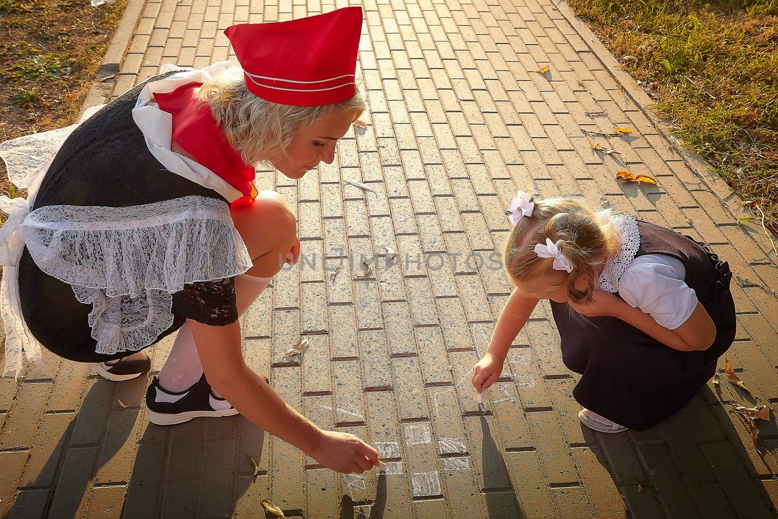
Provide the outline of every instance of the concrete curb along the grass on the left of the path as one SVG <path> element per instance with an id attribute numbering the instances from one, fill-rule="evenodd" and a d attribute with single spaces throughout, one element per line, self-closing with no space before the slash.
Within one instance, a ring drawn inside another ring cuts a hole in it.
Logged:
<path id="1" fill-rule="evenodd" d="M 106 103 L 110 97 L 111 90 L 114 89 L 116 84 L 116 79 L 98 80 L 119 72 L 121 60 L 124 59 L 124 54 L 135 33 L 135 27 L 138 26 L 138 20 L 141 18 L 144 6 L 145 0 L 128 0 L 127 6 L 124 7 L 124 14 L 116 27 L 114 37 L 110 40 L 108 49 L 103 56 L 103 62 L 100 64 L 100 68 L 97 69 L 95 80 L 92 86 L 89 87 L 89 92 L 86 93 L 84 102 L 81 104 L 79 117 L 87 108 L 93 107 L 96 104 Z"/>

